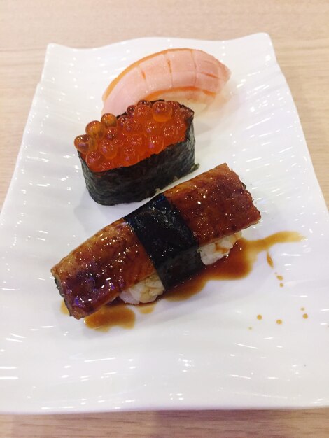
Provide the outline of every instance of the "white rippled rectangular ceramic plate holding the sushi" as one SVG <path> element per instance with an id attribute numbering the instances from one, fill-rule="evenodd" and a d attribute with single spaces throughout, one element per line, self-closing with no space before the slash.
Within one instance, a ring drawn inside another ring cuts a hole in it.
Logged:
<path id="1" fill-rule="evenodd" d="M 206 50 L 232 70 L 224 95 L 195 118 L 195 174 L 222 162 L 239 174 L 262 213 L 246 239 L 293 231 L 305 240 L 273 246 L 274 267 L 262 252 L 246 278 L 209 281 L 149 314 L 134 310 L 134 328 L 91 330 L 60 311 L 50 267 L 139 204 L 93 202 L 73 139 L 99 118 L 112 78 L 175 47 Z M 1 212 L 0 410 L 328 406 L 328 231 L 269 36 L 142 38 L 86 50 L 50 44 Z"/>

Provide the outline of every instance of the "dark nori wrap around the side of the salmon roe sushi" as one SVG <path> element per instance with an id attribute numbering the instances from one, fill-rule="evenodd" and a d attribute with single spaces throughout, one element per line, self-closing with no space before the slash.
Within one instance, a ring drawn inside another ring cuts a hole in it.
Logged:
<path id="1" fill-rule="evenodd" d="M 193 116 L 186 122 L 188 127 L 184 141 L 174 143 L 133 166 L 93 172 L 78 152 L 85 184 L 92 199 L 104 205 L 139 202 L 197 169 Z"/>

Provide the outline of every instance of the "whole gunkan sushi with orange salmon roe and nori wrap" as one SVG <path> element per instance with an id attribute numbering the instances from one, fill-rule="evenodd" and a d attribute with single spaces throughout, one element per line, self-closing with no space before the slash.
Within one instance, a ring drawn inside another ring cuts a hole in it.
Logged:
<path id="1" fill-rule="evenodd" d="M 176 101 L 139 101 L 94 120 L 74 145 L 99 204 L 138 202 L 195 170 L 194 112 Z"/>

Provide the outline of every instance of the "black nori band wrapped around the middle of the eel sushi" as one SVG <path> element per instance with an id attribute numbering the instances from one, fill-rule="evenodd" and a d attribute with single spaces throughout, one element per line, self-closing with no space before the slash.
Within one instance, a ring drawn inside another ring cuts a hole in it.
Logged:
<path id="1" fill-rule="evenodd" d="M 162 193 L 124 219 L 146 249 L 166 290 L 202 269 L 193 233 Z"/>

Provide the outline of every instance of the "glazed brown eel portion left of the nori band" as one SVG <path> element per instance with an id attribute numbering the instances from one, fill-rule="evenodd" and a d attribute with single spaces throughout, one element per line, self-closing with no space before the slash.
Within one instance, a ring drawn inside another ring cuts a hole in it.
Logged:
<path id="1" fill-rule="evenodd" d="M 144 246 L 127 222 L 119 219 L 72 250 L 52 268 L 52 275 L 71 315 L 81 318 L 153 271 Z"/>

